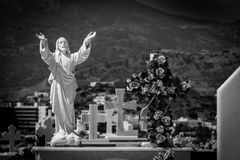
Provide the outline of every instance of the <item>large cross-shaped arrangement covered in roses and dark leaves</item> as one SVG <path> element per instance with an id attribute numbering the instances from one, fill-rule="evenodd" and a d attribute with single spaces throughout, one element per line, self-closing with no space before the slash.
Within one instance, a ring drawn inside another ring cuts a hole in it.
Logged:
<path id="1" fill-rule="evenodd" d="M 140 101 L 146 102 L 140 112 L 140 117 L 147 112 L 147 138 L 149 142 L 159 147 L 173 146 L 170 102 L 173 98 L 184 97 L 189 88 L 190 81 L 181 81 L 172 75 L 168 58 L 160 51 L 150 54 L 150 60 L 146 61 L 147 71 L 134 73 L 126 80 L 127 91 L 135 94 Z M 165 155 L 159 154 L 154 159 L 171 159 L 172 150 Z"/>

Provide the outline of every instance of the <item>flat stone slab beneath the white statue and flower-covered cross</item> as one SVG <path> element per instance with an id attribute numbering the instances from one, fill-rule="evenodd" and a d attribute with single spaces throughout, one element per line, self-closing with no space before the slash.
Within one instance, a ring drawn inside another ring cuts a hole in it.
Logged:
<path id="1" fill-rule="evenodd" d="M 164 148 L 34 147 L 36 160 L 150 160 Z M 190 149 L 174 149 L 174 160 L 190 160 Z"/>

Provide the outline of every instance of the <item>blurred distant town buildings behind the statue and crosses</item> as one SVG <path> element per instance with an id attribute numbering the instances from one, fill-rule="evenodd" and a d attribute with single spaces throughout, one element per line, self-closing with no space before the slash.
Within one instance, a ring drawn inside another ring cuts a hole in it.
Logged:
<path id="1" fill-rule="evenodd" d="M 125 95 L 125 99 L 130 99 Z M 114 91 L 114 82 L 91 82 L 88 87 L 77 90 L 75 100 L 76 118 L 80 118 L 82 113 L 88 112 L 89 104 L 97 104 L 99 112 L 105 112 L 105 101 L 116 101 L 117 97 Z M 124 112 L 124 127 L 129 125 L 133 129 L 138 129 L 146 132 L 146 121 L 142 120 L 138 124 L 138 112 L 142 108 L 142 104 L 137 105 L 137 111 Z M 22 134 L 35 134 L 36 125 L 46 119 L 48 116 L 53 116 L 49 99 L 49 92 L 34 92 L 21 99 L 21 101 L 0 101 L 0 132 L 7 130 L 7 127 L 14 124 Z M 146 117 L 143 117 L 143 119 Z M 106 125 L 99 124 L 98 131 L 104 133 Z M 197 128 L 205 128 L 207 136 L 210 138 L 216 134 L 216 122 L 205 121 L 202 118 L 192 119 L 189 117 L 178 117 L 173 120 L 176 134 L 184 134 L 185 136 L 197 136 Z M 114 124 L 113 124 L 114 127 Z M 144 137 L 144 135 L 142 135 Z"/>

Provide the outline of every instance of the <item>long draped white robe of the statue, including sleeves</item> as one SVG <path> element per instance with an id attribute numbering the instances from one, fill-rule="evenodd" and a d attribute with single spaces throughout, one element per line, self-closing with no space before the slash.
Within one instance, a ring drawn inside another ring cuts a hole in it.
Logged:
<path id="1" fill-rule="evenodd" d="M 51 85 L 50 103 L 55 115 L 55 135 L 73 133 L 75 126 L 74 99 L 77 89 L 74 70 L 78 64 L 88 58 L 90 47 L 86 48 L 83 43 L 78 52 L 69 55 L 59 51 L 51 53 L 45 48 L 40 50 L 40 54 L 51 71 L 48 82 Z"/>

